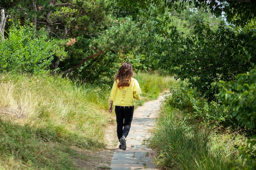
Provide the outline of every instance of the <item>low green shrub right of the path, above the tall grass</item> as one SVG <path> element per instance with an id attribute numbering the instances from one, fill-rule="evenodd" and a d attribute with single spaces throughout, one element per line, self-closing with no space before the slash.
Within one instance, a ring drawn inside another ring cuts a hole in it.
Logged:
<path id="1" fill-rule="evenodd" d="M 189 86 L 189 82 L 177 81 L 170 87 L 171 95 L 166 97 L 166 102 L 173 108 L 182 110 L 189 119 L 198 123 L 220 123 L 230 119 L 229 108 L 221 106 L 217 102 L 208 102 L 201 97 L 200 92 Z"/>

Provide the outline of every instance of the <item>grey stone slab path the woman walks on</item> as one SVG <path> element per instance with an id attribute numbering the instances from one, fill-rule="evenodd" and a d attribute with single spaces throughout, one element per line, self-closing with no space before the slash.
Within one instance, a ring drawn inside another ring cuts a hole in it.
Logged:
<path id="1" fill-rule="evenodd" d="M 135 109 L 126 138 L 126 150 L 119 149 L 117 144 L 110 165 L 111 170 L 157 170 L 152 162 L 155 152 L 147 148 L 145 139 L 150 136 L 148 130 L 155 126 L 161 99 L 162 97 L 159 97 Z"/>

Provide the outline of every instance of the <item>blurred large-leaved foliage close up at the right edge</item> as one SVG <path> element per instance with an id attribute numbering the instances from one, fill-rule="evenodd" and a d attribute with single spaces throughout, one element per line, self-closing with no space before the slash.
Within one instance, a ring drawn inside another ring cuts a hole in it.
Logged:
<path id="1" fill-rule="evenodd" d="M 218 99 L 231 105 L 233 116 L 240 124 L 256 130 L 256 68 L 247 73 L 238 74 L 236 81 L 220 81 Z"/>

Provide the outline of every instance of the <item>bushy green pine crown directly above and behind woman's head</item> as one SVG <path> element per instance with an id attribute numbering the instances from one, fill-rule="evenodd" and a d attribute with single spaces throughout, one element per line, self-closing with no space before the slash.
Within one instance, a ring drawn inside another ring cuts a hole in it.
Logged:
<path id="1" fill-rule="evenodd" d="M 113 21 L 111 27 L 102 31 L 101 35 L 94 40 L 79 37 L 77 43 L 70 46 L 71 53 L 68 66 L 74 65 L 72 63 L 80 63 L 79 66 L 81 66 L 86 61 L 83 67 L 78 70 L 78 75 L 92 80 L 100 79 L 98 77 L 99 73 L 109 77 L 105 73 L 108 72 L 110 73 L 109 75 L 115 74 L 115 65 L 119 65 L 120 62 L 126 60 L 129 60 L 129 62 L 141 62 L 141 55 L 139 53 L 147 41 L 149 32 L 150 24 L 147 21 L 132 21 L 128 17 L 118 18 Z M 93 52 L 90 52 L 90 50 Z M 76 58 L 77 56 L 88 56 L 91 53 L 93 55 L 84 57 L 84 60 L 80 60 L 80 62 Z M 88 58 L 93 60 L 89 61 Z M 68 68 L 68 66 L 63 67 Z M 140 67 L 139 64 L 134 66 L 135 69 Z M 72 69 L 68 68 L 67 72 Z"/>

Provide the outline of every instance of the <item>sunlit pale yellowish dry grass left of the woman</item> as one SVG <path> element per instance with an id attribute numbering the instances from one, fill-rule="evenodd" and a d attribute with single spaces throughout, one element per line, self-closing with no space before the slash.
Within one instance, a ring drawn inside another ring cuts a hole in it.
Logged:
<path id="1" fill-rule="evenodd" d="M 50 125 L 56 127 L 59 135 L 65 131 L 64 134 L 84 133 L 91 139 L 103 137 L 99 129 L 107 117 L 99 111 L 103 106 L 95 103 L 92 94 L 97 96 L 97 93 L 106 92 L 97 87 L 84 90 L 83 86 L 76 86 L 67 79 L 54 77 L 24 76 L 18 79 L 3 76 L 1 88 L 4 89 L 1 93 L 2 113 L 5 110 L 5 116 L 9 114 L 13 121 L 31 122 L 38 127 Z M 107 94 L 102 100 L 107 100 Z M 100 101 L 99 97 L 97 101 Z"/>

